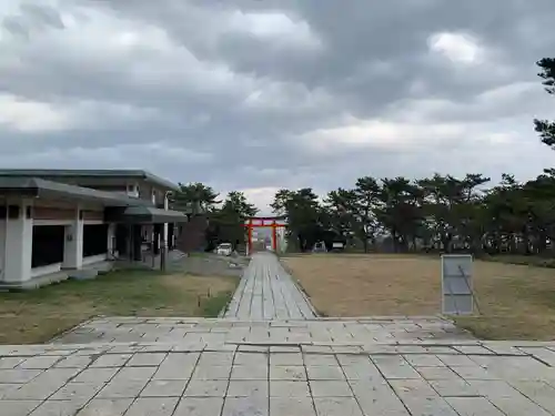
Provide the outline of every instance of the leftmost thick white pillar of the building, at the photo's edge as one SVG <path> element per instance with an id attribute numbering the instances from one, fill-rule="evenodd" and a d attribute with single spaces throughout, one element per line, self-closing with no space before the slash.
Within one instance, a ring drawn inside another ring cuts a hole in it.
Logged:
<path id="1" fill-rule="evenodd" d="M 32 202 L 8 203 L 6 220 L 4 282 L 23 283 L 31 278 L 33 240 Z"/>

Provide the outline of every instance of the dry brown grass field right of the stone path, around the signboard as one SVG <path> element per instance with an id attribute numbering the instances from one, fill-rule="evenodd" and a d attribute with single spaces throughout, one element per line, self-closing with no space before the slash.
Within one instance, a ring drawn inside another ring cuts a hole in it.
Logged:
<path id="1" fill-rule="evenodd" d="M 440 256 L 307 254 L 283 258 L 327 316 L 441 313 Z M 475 316 L 454 317 L 477 337 L 555 339 L 555 270 L 475 261 Z"/>

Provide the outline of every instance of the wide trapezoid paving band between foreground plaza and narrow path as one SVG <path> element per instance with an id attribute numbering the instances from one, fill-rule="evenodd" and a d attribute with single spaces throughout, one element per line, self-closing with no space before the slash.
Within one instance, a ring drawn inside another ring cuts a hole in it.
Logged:
<path id="1" fill-rule="evenodd" d="M 303 321 L 107 317 L 92 319 L 53 341 L 57 344 L 180 343 L 200 345 L 373 345 L 413 341 L 467 341 L 451 321 L 433 316 L 374 316 Z"/>

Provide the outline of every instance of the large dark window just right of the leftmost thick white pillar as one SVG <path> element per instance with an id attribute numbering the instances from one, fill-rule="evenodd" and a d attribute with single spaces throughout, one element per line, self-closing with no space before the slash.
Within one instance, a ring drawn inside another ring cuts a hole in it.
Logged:
<path id="1" fill-rule="evenodd" d="M 63 225 L 33 226 L 31 267 L 63 262 Z"/>

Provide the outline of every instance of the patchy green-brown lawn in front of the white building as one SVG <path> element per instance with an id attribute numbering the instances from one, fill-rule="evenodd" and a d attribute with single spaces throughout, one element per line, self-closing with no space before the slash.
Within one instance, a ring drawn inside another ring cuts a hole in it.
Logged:
<path id="1" fill-rule="evenodd" d="M 97 315 L 218 316 L 239 278 L 118 271 L 34 291 L 0 293 L 0 344 L 32 344 Z"/>

